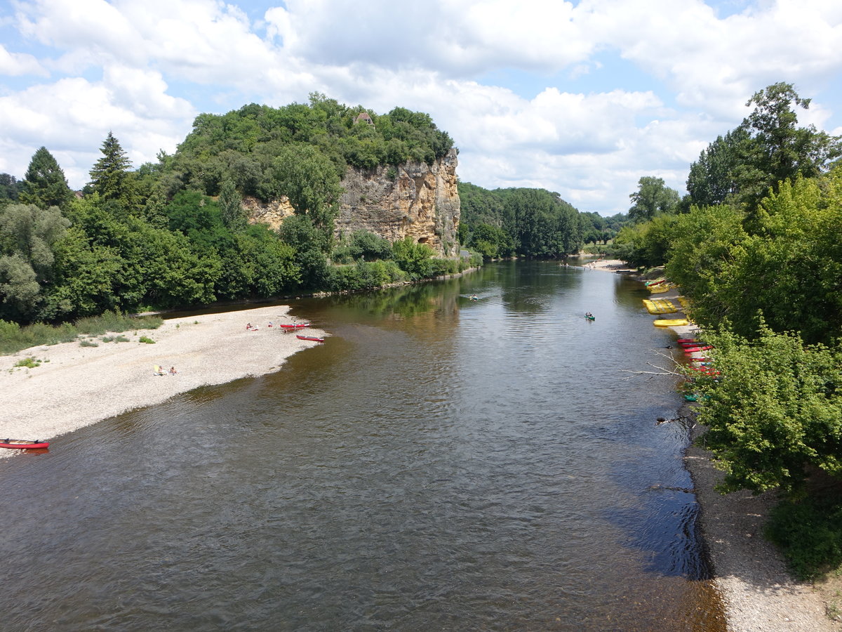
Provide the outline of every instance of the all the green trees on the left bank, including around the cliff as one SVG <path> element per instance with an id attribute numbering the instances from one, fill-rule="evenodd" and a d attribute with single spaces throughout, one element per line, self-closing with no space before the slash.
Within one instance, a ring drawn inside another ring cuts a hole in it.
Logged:
<path id="1" fill-rule="evenodd" d="M 24 179 L 0 174 L 0 319 L 360 290 L 481 262 L 365 232 L 334 238 L 347 165 L 431 162 L 452 147 L 429 115 L 364 111 L 314 94 L 308 105 L 200 115 L 173 156 L 136 170 L 109 132 L 80 194 L 41 147 Z M 295 215 L 278 232 L 251 225 L 245 194 L 286 195 Z"/>

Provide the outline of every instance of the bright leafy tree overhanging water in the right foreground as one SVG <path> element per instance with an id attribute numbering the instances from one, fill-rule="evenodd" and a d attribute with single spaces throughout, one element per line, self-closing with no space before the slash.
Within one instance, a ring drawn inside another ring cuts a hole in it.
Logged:
<path id="1" fill-rule="evenodd" d="M 842 353 L 805 346 L 762 320 L 754 340 L 706 334 L 721 379 L 696 386 L 706 447 L 725 470 L 722 489 L 802 488 L 807 466 L 842 477 Z"/>

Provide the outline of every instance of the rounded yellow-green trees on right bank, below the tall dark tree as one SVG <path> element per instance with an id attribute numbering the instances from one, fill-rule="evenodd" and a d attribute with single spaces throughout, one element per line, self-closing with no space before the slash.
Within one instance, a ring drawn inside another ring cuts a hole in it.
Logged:
<path id="1" fill-rule="evenodd" d="M 761 312 L 771 329 L 797 330 L 829 343 L 842 330 L 842 169 L 821 179 L 784 182 L 754 212 L 755 233 L 730 206 L 680 216 L 670 279 L 693 300 L 694 319 L 716 329 L 724 319 L 750 337 Z"/>

